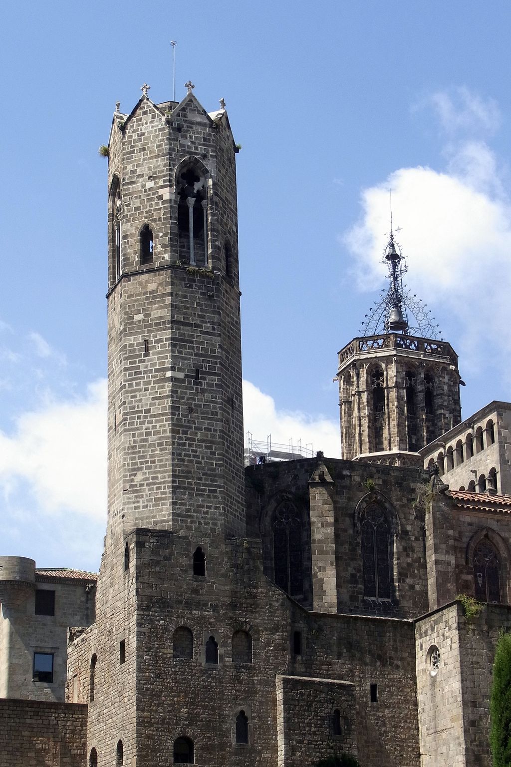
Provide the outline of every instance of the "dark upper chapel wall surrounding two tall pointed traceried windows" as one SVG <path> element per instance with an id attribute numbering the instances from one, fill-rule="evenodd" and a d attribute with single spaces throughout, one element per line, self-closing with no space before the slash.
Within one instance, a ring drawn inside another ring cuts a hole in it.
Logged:
<path id="1" fill-rule="evenodd" d="M 274 578 L 272 519 L 281 499 L 290 499 L 297 508 L 310 508 L 310 517 L 324 513 L 324 494 L 318 495 L 317 484 L 309 480 L 316 469 L 316 459 L 302 459 L 285 463 L 250 466 L 247 477 L 247 525 L 254 535 L 257 526 L 263 540 L 264 572 Z M 427 611 L 427 571 L 424 552 L 424 518 L 414 502 L 418 489 L 427 480 L 418 469 L 382 466 L 369 463 L 325 459 L 324 464 L 332 482 L 328 496 L 333 507 L 335 551 L 326 551 L 326 537 L 318 537 L 312 556 L 315 568 L 329 564 L 332 555 L 336 561 L 336 588 L 339 612 L 387 614 L 415 617 Z M 368 487 L 370 488 L 368 490 Z M 364 598 L 362 581 L 362 549 L 357 525 L 359 514 L 366 502 L 381 502 L 388 510 L 393 527 L 394 597 L 388 601 Z M 317 511 L 317 514 L 316 514 Z M 308 515 L 307 515 L 308 516 Z M 304 521 L 306 525 L 308 521 Z M 330 531 L 328 531 L 328 539 Z M 306 538 L 304 538 L 306 542 Z M 310 546 L 310 542 L 308 543 Z M 319 547 L 319 548 L 318 548 Z M 310 548 L 304 547 L 304 570 L 310 574 Z M 304 601 L 307 607 L 309 603 Z"/>

